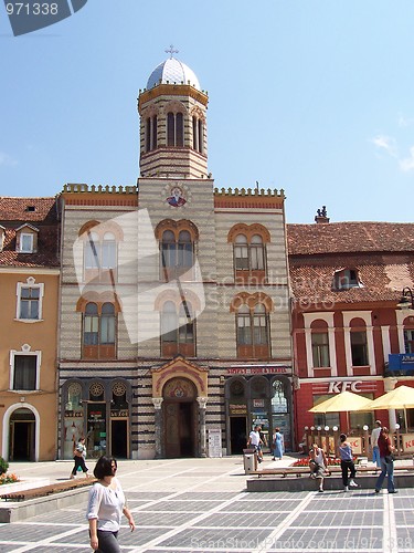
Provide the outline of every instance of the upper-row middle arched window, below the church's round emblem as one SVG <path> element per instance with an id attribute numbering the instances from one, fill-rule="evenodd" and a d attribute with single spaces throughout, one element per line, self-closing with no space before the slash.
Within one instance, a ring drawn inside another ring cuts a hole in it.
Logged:
<path id="1" fill-rule="evenodd" d="M 189 221 L 166 221 L 167 228 L 160 233 L 160 271 L 166 281 L 183 278 L 193 280 L 194 241 L 197 231 Z M 156 234 L 158 232 L 156 231 Z"/>

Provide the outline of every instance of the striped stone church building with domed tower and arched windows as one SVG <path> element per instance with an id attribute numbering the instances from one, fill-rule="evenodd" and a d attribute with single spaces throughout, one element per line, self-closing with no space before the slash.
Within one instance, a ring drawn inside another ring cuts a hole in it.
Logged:
<path id="1" fill-rule="evenodd" d="M 61 195 L 63 459 L 81 436 L 94 458 L 241 453 L 255 424 L 294 447 L 284 191 L 215 188 L 209 96 L 170 54 L 139 93 L 137 186 Z"/>

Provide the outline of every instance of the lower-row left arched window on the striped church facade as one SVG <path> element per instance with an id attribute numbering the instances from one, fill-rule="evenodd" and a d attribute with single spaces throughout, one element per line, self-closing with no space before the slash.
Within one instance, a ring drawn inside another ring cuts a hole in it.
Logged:
<path id="1" fill-rule="evenodd" d="M 83 357 L 115 357 L 116 314 L 113 303 L 89 302 L 84 311 Z"/>

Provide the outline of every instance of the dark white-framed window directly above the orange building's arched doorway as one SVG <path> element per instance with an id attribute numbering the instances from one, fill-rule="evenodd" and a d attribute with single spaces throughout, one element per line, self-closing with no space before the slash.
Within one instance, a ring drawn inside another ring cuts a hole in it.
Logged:
<path id="1" fill-rule="evenodd" d="M 33 392 L 39 389 L 40 352 L 31 352 L 24 344 L 21 352 L 10 352 L 10 389 Z"/>

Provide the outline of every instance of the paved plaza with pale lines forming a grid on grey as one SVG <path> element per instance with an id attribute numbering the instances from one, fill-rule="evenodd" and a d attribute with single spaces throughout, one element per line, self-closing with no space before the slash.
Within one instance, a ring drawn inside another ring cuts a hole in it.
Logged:
<path id="1" fill-rule="evenodd" d="M 265 462 L 269 467 L 291 459 Z M 94 463 L 89 463 L 93 468 Z M 21 477 L 67 478 L 65 461 L 11 463 Z M 414 490 L 248 493 L 242 459 L 120 461 L 119 479 L 137 530 L 123 552 L 410 552 Z M 0 552 L 91 552 L 86 493 L 76 504 L 0 525 Z M 124 522 L 126 520 L 124 519 Z"/>

